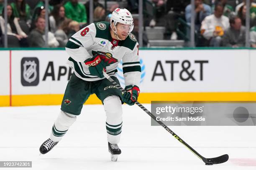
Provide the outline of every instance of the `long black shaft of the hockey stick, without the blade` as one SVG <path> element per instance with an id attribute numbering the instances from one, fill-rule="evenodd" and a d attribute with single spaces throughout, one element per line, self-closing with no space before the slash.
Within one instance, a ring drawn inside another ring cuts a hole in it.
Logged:
<path id="1" fill-rule="evenodd" d="M 115 87 L 117 87 L 119 90 L 121 90 L 122 92 L 125 92 L 125 90 L 117 83 L 115 82 L 115 80 L 113 80 L 106 72 L 103 71 L 103 75 L 104 77 L 106 77 L 110 82 L 113 83 L 113 85 L 115 85 Z M 135 102 L 136 105 L 138 105 L 139 107 L 141 107 L 142 110 L 144 110 L 144 112 L 146 112 L 150 117 L 152 117 L 152 119 L 154 119 L 159 125 L 161 125 L 167 132 L 169 132 L 175 139 L 177 139 L 180 143 L 182 143 L 183 145 L 185 145 L 192 153 L 194 153 L 198 158 L 200 158 L 201 160 L 203 160 L 204 157 L 202 157 L 202 155 L 200 155 L 199 153 L 197 153 L 197 151 L 195 151 L 191 146 L 189 146 L 184 140 L 182 140 L 181 138 L 179 138 L 178 135 L 176 135 L 176 133 L 174 133 L 171 129 L 169 129 L 163 122 L 161 122 L 160 120 L 156 120 L 156 116 L 154 116 L 149 110 L 146 109 L 146 107 L 144 107 L 143 105 L 141 105 L 141 103 L 139 103 L 138 101 Z"/>

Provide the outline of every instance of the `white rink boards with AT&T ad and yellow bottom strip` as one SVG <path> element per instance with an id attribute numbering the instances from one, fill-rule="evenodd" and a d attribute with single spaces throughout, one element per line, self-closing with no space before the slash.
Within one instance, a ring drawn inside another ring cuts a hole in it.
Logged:
<path id="1" fill-rule="evenodd" d="M 65 50 L 0 50 L 0 106 L 59 105 L 72 70 Z M 144 49 L 139 101 L 256 100 L 256 50 Z M 118 78 L 124 87 L 122 65 Z M 100 104 L 92 95 L 88 104 Z"/>

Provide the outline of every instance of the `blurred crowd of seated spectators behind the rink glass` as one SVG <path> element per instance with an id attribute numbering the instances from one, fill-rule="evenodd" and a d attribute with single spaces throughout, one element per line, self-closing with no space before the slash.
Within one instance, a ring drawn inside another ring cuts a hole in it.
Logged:
<path id="1" fill-rule="evenodd" d="M 0 46 L 5 32 L 4 0 L 0 0 Z M 197 47 L 244 47 L 246 43 L 246 0 L 195 0 L 195 43 Z M 8 0 L 9 2 L 9 0 Z M 116 7 L 134 16 L 133 33 L 138 36 L 138 0 L 93 0 L 94 22 L 107 20 Z M 125 3 L 123 3 L 125 2 Z M 122 3 L 125 6 L 120 5 Z M 190 39 L 192 7 L 190 0 L 143 0 L 143 25 L 164 27 L 165 40 Z M 49 0 L 49 19 L 45 22 L 44 0 L 10 0 L 7 6 L 8 47 L 65 47 L 69 37 L 89 25 L 88 0 Z M 250 4 L 250 42 L 256 47 L 256 3 Z M 136 17 L 137 16 L 137 17 Z M 143 46 L 148 44 L 146 31 Z"/>

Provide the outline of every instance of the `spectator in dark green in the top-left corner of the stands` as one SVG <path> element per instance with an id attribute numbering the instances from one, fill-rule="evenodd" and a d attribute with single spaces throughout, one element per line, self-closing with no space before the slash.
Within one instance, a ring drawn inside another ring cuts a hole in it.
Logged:
<path id="1" fill-rule="evenodd" d="M 26 0 L 15 0 L 10 5 L 13 8 L 14 17 L 24 21 L 31 20 L 30 6 L 26 3 Z"/>

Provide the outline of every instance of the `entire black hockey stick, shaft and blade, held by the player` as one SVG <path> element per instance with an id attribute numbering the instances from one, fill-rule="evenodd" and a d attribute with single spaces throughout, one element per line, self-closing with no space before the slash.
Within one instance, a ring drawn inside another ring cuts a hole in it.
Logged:
<path id="1" fill-rule="evenodd" d="M 113 83 L 113 85 L 115 85 L 115 87 L 117 87 L 119 90 L 121 90 L 122 92 L 125 92 L 125 90 L 117 83 L 115 82 L 115 80 L 113 80 L 106 72 L 103 71 L 103 75 L 104 77 L 106 77 L 110 82 Z M 144 110 L 144 112 L 146 112 L 150 117 L 152 117 L 156 122 L 159 123 L 159 125 L 161 125 L 165 130 L 167 130 L 167 132 L 169 132 L 170 134 L 173 135 L 173 137 L 175 139 L 177 139 L 180 143 L 182 143 L 183 145 L 185 145 L 192 153 L 194 153 L 198 158 L 200 158 L 205 165 L 213 165 L 213 164 L 218 164 L 218 163 L 225 163 L 228 160 L 228 154 L 225 155 L 221 155 L 219 157 L 216 158 L 205 158 L 202 155 L 200 155 L 199 153 L 197 153 L 197 151 L 195 151 L 191 146 L 189 146 L 184 140 L 182 140 L 181 138 L 179 138 L 178 135 L 176 135 L 172 130 L 170 130 L 166 125 L 164 125 L 163 122 L 156 120 L 156 116 L 154 116 L 150 111 L 148 111 L 143 105 L 141 105 L 141 103 L 139 103 L 138 101 L 135 102 L 136 105 L 138 105 L 139 107 L 141 107 L 142 110 Z"/>

